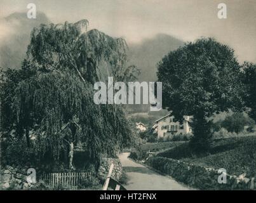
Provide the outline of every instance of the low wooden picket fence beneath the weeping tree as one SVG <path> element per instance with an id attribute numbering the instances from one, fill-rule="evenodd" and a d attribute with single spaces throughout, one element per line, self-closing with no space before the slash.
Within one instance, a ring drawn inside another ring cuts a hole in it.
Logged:
<path id="1" fill-rule="evenodd" d="M 76 187 L 83 184 L 83 181 L 90 181 L 91 178 L 95 177 L 95 173 L 44 173 L 40 179 L 45 183 L 51 185 L 51 187 L 57 187 L 58 185 L 68 185 Z"/>

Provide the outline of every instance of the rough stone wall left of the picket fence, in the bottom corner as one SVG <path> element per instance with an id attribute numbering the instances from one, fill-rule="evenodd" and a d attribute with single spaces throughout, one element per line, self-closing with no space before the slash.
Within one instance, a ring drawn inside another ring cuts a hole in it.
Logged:
<path id="1" fill-rule="evenodd" d="M 0 171 L 0 190 L 26 190 L 32 186 L 26 179 L 25 171 L 18 172 L 13 167 L 5 167 Z"/>

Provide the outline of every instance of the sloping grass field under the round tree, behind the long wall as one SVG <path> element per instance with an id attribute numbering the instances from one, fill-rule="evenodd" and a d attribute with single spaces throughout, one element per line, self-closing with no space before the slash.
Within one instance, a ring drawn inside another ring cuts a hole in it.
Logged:
<path id="1" fill-rule="evenodd" d="M 256 136 L 213 140 L 208 152 L 194 154 L 188 143 L 172 148 L 158 156 L 184 160 L 215 169 L 224 168 L 228 174 L 256 174 Z"/>

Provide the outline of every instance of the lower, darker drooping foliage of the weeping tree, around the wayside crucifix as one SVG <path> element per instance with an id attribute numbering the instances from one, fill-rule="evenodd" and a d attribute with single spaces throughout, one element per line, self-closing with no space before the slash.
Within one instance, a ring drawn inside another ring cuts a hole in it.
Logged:
<path id="1" fill-rule="evenodd" d="M 74 74 L 39 73 L 20 82 L 15 95 L 17 122 L 29 120 L 31 127 L 39 125 L 38 155 L 48 152 L 58 160 L 60 152 L 66 148 L 64 139 L 83 143 L 93 159 L 102 154 L 113 156 L 116 149 L 131 142 L 131 132 L 121 108 L 95 105 L 92 86 Z M 74 117 L 81 130 L 60 132 Z"/>

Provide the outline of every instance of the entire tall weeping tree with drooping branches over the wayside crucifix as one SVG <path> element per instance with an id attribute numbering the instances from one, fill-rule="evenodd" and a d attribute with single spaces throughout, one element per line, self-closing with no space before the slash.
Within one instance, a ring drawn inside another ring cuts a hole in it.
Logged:
<path id="1" fill-rule="evenodd" d="M 58 162 L 68 151 L 71 169 L 74 147 L 98 160 L 132 143 L 123 109 L 95 105 L 93 83 L 106 76 L 132 80 L 137 69 L 127 65 L 123 39 L 87 31 L 87 26 L 82 20 L 32 30 L 22 71 L 35 74 L 18 83 L 12 103 L 14 122 L 18 132 L 25 132 L 27 147 L 29 130 L 37 129 L 32 143 L 37 158 Z"/>

